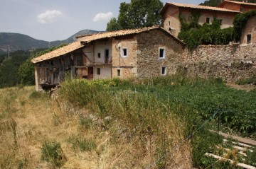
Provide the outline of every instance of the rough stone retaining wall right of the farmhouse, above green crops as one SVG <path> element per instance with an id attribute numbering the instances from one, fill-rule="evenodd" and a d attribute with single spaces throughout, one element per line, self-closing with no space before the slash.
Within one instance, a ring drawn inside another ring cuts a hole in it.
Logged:
<path id="1" fill-rule="evenodd" d="M 200 46 L 184 52 L 177 69 L 188 76 L 237 81 L 256 74 L 256 44 Z"/>

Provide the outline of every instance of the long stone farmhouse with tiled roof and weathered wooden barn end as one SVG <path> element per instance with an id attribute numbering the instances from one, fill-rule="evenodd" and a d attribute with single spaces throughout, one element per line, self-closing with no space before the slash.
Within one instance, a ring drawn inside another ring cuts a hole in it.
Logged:
<path id="1" fill-rule="evenodd" d="M 82 35 L 31 60 L 36 90 L 71 78 L 145 78 L 174 74 L 185 44 L 159 26 Z"/>

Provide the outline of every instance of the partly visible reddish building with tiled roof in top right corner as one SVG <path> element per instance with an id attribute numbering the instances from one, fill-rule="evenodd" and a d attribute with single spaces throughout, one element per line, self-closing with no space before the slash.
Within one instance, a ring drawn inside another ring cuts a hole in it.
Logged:
<path id="1" fill-rule="evenodd" d="M 240 1 L 225 0 L 218 7 L 227 8 L 233 11 L 247 12 L 247 11 L 256 9 L 256 4 L 247 3 L 247 1 L 240 2 Z"/>

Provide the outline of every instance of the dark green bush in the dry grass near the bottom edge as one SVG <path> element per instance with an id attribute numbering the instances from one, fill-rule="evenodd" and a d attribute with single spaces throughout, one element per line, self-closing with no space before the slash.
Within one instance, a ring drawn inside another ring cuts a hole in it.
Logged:
<path id="1" fill-rule="evenodd" d="M 55 167 L 62 166 L 66 159 L 60 143 L 56 141 L 44 141 L 43 146 L 41 147 L 41 160 L 47 161 L 53 164 Z"/>

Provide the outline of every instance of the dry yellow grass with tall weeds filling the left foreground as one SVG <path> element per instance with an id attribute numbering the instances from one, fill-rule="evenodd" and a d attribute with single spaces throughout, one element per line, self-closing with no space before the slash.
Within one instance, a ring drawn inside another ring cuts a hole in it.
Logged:
<path id="1" fill-rule="evenodd" d="M 33 86 L 1 89 L 0 168 L 56 168 L 41 160 L 44 141 L 60 143 L 66 159 L 60 168 L 191 168 L 191 145 L 181 144 L 186 124 L 174 110 L 156 98 L 142 102 L 145 95 L 95 93 L 94 87 L 92 100 L 82 104 Z"/>

